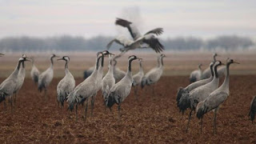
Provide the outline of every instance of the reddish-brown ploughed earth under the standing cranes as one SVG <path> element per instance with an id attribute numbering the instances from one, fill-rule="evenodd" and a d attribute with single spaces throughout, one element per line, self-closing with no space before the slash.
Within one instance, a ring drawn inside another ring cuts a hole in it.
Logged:
<path id="1" fill-rule="evenodd" d="M 49 88 L 50 99 L 39 94 L 34 83 L 26 78 L 20 90 L 16 108 L 0 111 L 0 143 L 256 143 L 256 125 L 247 117 L 252 96 L 256 93 L 256 76 L 231 76 L 230 97 L 218 112 L 218 134 L 213 134 L 213 113 L 204 117 L 203 132 L 199 120 L 191 120 L 186 133 L 187 114 L 182 118 L 175 97 L 178 86 L 188 84 L 187 77 L 163 77 L 153 95 L 150 87 L 134 92 L 122 103 L 122 118 L 117 106 L 113 113 L 104 112 L 102 96 L 98 94 L 94 116 L 82 118 L 84 107 L 78 107 L 78 122 L 74 112 L 58 107 L 54 79 Z M 2 81 L 2 79 L 1 79 Z M 77 84 L 82 79 L 77 80 Z"/>

